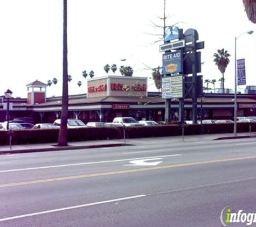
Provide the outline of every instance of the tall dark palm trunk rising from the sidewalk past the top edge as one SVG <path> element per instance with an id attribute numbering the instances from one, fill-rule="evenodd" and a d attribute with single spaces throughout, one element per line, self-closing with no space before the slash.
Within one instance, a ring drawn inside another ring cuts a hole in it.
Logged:
<path id="1" fill-rule="evenodd" d="M 63 90 L 61 107 L 61 124 L 57 146 L 67 146 L 68 116 L 68 71 L 67 71 L 67 0 L 63 0 Z"/>

